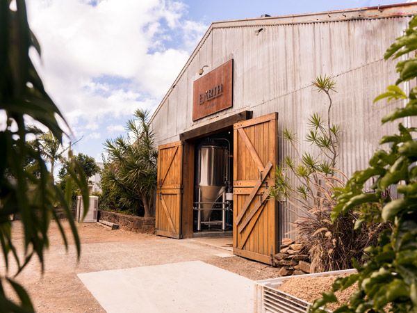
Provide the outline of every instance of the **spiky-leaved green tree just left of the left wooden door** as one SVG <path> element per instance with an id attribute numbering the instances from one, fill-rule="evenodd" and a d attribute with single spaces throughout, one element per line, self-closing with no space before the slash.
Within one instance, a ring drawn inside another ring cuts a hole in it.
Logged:
<path id="1" fill-rule="evenodd" d="M 149 111 L 137 110 L 136 119 L 129 120 L 128 138 L 108 139 L 104 146 L 109 166 L 103 172 L 103 183 L 120 193 L 120 204 L 135 207 L 142 203 L 144 216 L 151 216 L 156 188 L 158 150 L 154 147 L 154 133 L 149 129 Z"/>

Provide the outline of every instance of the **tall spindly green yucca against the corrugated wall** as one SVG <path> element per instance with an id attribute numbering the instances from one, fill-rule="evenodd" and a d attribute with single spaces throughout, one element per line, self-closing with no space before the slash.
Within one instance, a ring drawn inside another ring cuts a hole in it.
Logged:
<path id="1" fill-rule="evenodd" d="M 318 92 L 323 92 L 329 99 L 327 106 L 327 120 L 323 119 L 320 114 L 314 113 L 307 121 L 309 132 L 306 134 L 305 141 L 316 147 L 317 154 L 311 152 L 300 153 L 300 142 L 297 134 L 291 129 L 284 129 L 281 133 L 281 138 L 288 141 L 295 151 L 296 157 L 292 158 L 286 156 L 284 162 L 275 168 L 275 186 L 271 188 L 271 195 L 273 198 L 279 200 L 284 206 L 283 200 L 289 197 L 293 200 L 298 200 L 304 211 L 309 211 L 309 208 L 317 204 L 316 195 L 318 193 L 317 186 L 320 186 L 320 173 L 326 177 L 334 175 L 334 168 L 336 168 L 336 161 L 338 157 L 338 140 L 340 136 L 340 126 L 333 125 L 330 120 L 330 113 L 332 109 L 331 92 L 336 92 L 335 81 L 331 77 L 321 75 L 312 81 L 313 86 L 316 86 Z M 289 175 L 295 177 L 295 181 L 290 182 Z M 286 177 L 286 182 L 283 184 L 282 177 Z"/>

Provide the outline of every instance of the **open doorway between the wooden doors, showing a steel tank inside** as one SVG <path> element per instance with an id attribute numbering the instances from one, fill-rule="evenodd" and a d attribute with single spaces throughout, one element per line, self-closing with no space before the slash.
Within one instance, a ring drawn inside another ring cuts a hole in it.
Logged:
<path id="1" fill-rule="evenodd" d="M 233 129 L 195 140 L 193 237 L 233 234 Z"/>

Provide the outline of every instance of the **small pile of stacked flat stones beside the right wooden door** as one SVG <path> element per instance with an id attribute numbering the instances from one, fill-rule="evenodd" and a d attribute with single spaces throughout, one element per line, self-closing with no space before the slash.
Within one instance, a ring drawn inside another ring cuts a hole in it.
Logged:
<path id="1" fill-rule="evenodd" d="M 280 267 L 279 275 L 289 276 L 310 273 L 309 255 L 305 243 L 284 238 L 280 248 L 279 253 L 274 255 L 275 265 Z"/>

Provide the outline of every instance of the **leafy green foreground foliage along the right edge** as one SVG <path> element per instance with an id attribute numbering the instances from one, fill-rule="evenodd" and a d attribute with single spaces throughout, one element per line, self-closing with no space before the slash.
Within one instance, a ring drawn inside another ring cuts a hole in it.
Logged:
<path id="1" fill-rule="evenodd" d="M 398 58 L 417 49 L 417 19 L 411 20 L 406 34 L 398 38 L 386 51 L 385 59 Z M 382 122 L 392 122 L 399 118 L 417 115 L 417 88 L 409 95 L 398 87 L 402 81 L 417 77 L 417 58 L 408 58 L 397 65 L 400 79 L 396 86 L 375 99 L 388 98 L 389 101 L 407 99 L 407 106 L 400 106 L 386 115 Z M 354 282 L 358 288 L 350 298 L 349 305 L 342 304 L 334 313 L 341 312 L 414 312 L 417 313 L 417 142 L 412 134 L 415 127 L 398 125 L 399 134 L 384 136 L 380 144 L 391 143 L 389 151 L 378 151 L 370 159 L 370 167 L 355 172 L 345 188 L 335 195 L 337 204 L 332 212 L 332 220 L 354 207 L 361 207 L 361 218 L 354 227 L 375 221 L 391 222 L 393 230 L 385 230 L 379 236 L 379 245 L 367 249 L 370 259 L 363 266 L 355 265 L 358 273 L 346 278 L 338 278 L 333 291 L 346 289 Z M 373 193 L 363 192 L 366 182 L 374 179 Z M 389 186 L 398 185 L 400 198 L 384 198 Z M 369 203 L 377 203 L 381 210 L 371 211 Z M 323 294 L 316 300 L 309 312 L 324 312 L 320 307 L 337 302 L 333 292 Z"/>

